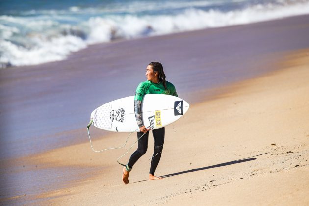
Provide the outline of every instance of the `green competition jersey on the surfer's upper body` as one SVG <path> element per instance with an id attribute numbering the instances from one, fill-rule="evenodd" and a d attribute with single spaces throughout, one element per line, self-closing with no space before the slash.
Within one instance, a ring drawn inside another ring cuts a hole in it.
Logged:
<path id="1" fill-rule="evenodd" d="M 134 99 L 142 101 L 145 94 L 167 94 L 178 97 L 175 86 L 168 81 L 165 81 L 165 83 L 167 90 L 165 90 L 162 83 L 155 84 L 151 81 L 141 82 L 136 88 Z"/>

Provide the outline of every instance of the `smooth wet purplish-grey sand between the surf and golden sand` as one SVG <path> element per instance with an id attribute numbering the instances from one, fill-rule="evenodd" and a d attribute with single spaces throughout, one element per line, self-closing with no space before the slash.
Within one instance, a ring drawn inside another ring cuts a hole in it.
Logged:
<path id="1" fill-rule="evenodd" d="M 6 120 L 0 156 L 84 142 L 81 128 L 91 111 L 134 95 L 145 65 L 154 60 L 164 63 L 167 80 L 189 103 L 213 95 L 212 88 L 266 74 L 285 52 L 309 47 L 308 20 L 305 15 L 100 44 L 61 62 L 0 70 L 0 115 Z"/>

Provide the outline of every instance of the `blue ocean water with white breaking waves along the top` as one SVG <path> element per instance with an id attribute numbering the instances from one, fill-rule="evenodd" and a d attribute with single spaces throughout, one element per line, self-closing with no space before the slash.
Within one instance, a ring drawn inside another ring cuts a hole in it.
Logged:
<path id="1" fill-rule="evenodd" d="M 309 0 L 1 0 L 0 68 L 118 39 L 309 14 Z"/>

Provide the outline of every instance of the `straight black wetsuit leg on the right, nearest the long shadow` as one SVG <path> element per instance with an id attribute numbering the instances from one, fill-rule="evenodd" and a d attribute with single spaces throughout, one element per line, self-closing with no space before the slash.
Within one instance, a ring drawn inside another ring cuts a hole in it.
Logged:
<path id="1" fill-rule="evenodd" d="M 165 135 L 165 128 L 160 129 L 154 129 L 153 130 L 153 136 L 154 136 L 154 154 L 153 158 L 151 159 L 151 166 L 149 174 L 154 175 L 154 172 L 156 170 L 156 167 L 159 164 L 162 150 L 163 150 L 163 144 L 164 144 L 164 135 Z"/>

